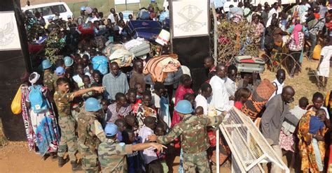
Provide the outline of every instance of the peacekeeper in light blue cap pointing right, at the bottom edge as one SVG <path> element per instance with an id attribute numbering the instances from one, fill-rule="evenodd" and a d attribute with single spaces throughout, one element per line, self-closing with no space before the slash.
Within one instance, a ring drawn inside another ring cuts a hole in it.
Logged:
<path id="1" fill-rule="evenodd" d="M 148 142 L 144 144 L 125 144 L 118 142 L 118 126 L 114 123 L 107 123 L 105 127 L 106 140 L 98 146 L 99 163 L 102 166 L 102 172 L 127 172 L 127 161 L 125 157 L 132 151 L 141 151 L 153 147 L 162 152 L 167 148 L 162 144 Z"/>

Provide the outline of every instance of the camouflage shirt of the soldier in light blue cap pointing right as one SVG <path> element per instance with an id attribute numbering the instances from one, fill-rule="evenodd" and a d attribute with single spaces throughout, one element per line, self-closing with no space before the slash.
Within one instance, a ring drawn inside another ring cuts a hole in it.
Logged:
<path id="1" fill-rule="evenodd" d="M 132 153 L 132 145 L 106 139 L 98 146 L 102 172 L 127 172 L 126 154 Z"/>

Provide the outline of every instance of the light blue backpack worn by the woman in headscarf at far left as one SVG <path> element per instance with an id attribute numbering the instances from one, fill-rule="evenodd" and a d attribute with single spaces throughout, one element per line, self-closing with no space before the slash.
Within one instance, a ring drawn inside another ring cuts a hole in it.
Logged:
<path id="1" fill-rule="evenodd" d="M 48 109 L 47 100 L 43 97 L 41 92 L 41 85 L 29 87 L 29 100 L 34 113 L 43 112 Z"/>

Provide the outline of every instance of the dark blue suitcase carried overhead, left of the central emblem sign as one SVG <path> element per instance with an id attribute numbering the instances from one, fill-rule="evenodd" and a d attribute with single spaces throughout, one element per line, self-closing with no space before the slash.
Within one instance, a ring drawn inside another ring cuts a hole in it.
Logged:
<path id="1" fill-rule="evenodd" d="M 133 38 L 140 37 L 149 41 L 154 41 L 162 30 L 160 23 L 152 20 L 132 20 L 128 22 L 128 28 Z"/>

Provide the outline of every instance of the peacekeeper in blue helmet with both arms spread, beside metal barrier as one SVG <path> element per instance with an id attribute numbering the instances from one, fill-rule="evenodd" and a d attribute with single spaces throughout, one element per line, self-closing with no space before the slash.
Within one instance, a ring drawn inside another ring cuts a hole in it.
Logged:
<path id="1" fill-rule="evenodd" d="M 181 100 L 174 107 L 182 118 L 168 135 L 150 135 L 148 140 L 157 141 L 160 144 L 168 144 L 181 136 L 181 149 L 184 151 L 184 172 L 195 172 L 198 168 L 200 173 L 210 172 L 207 160 L 207 126 L 219 126 L 223 121 L 223 116 L 195 116 L 191 114 L 193 107 L 188 100 Z"/>

